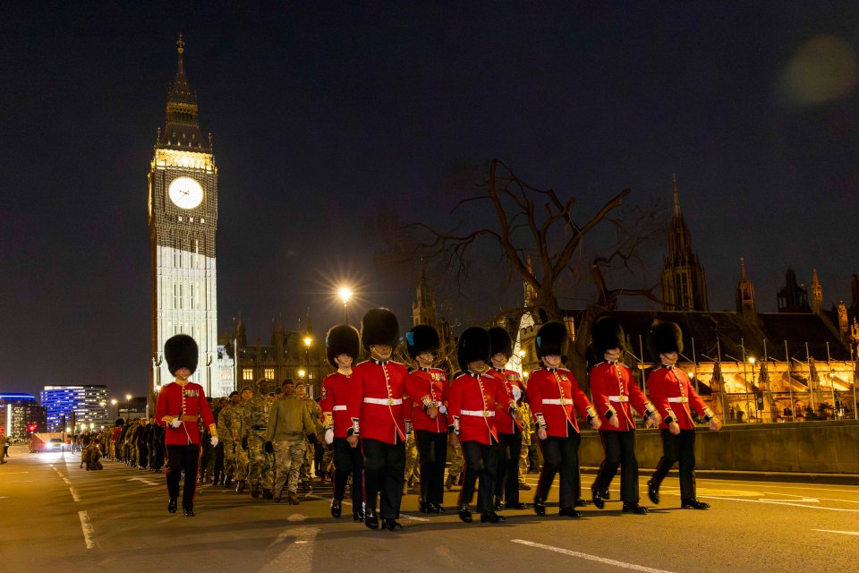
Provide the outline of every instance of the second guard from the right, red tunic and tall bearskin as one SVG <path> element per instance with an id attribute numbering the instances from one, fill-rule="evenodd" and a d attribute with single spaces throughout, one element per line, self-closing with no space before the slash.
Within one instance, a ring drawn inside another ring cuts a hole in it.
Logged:
<path id="1" fill-rule="evenodd" d="M 643 515 L 648 509 L 638 504 L 633 408 L 642 413 L 649 425 L 658 424 L 662 418 L 638 388 L 633 373 L 622 362 L 624 340 L 624 329 L 611 317 L 600 318 L 591 329 L 594 354 L 605 360 L 591 369 L 591 398 L 600 415 L 600 440 L 606 452 L 597 479 L 591 486 L 591 499 L 597 508 L 604 507 L 605 493 L 620 466 L 620 499 L 624 502 L 624 513 Z"/>

